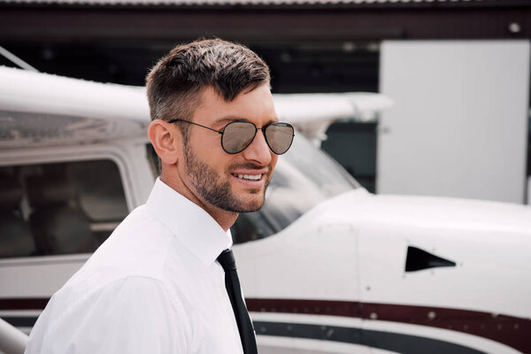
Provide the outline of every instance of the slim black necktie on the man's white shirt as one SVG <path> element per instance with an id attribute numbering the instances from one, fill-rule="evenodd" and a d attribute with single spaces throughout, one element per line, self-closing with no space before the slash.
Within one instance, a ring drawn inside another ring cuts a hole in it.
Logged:
<path id="1" fill-rule="evenodd" d="M 235 256 L 232 250 L 224 250 L 221 252 L 218 257 L 218 262 L 225 271 L 225 287 L 227 288 L 230 304 L 232 304 L 235 312 L 236 323 L 238 324 L 240 339 L 242 340 L 243 353 L 258 354 L 257 340 L 252 322 L 250 321 L 249 312 L 247 312 L 247 307 L 243 303 L 242 289 L 240 288 L 238 273 L 236 273 Z"/>

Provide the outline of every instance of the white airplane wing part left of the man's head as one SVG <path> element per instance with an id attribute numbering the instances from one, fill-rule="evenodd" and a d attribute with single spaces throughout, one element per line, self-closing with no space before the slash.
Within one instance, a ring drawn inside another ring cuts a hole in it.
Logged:
<path id="1" fill-rule="evenodd" d="M 145 90 L 0 66 L 0 148 L 143 137 Z"/>

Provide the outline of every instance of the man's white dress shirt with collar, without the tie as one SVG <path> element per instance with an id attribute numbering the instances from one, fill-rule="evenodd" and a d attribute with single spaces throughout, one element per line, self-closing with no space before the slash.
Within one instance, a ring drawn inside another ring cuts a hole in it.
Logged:
<path id="1" fill-rule="evenodd" d="M 157 180 L 80 271 L 52 296 L 28 354 L 242 354 L 216 261 L 225 232 Z"/>

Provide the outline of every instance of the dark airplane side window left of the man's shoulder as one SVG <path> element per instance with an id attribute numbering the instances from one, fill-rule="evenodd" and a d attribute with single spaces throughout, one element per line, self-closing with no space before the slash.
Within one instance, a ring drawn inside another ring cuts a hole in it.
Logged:
<path id="1" fill-rule="evenodd" d="M 0 167 L 0 258 L 89 253 L 127 215 L 110 160 Z"/>

